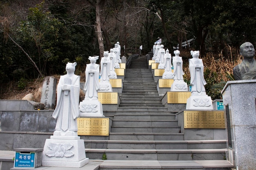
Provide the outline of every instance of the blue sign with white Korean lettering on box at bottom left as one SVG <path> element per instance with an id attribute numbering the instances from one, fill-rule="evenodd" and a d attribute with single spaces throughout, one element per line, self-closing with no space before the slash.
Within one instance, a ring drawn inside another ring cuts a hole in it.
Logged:
<path id="1" fill-rule="evenodd" d="M 29 153 L 15 153 L 14 168 L 35 168 L 36 152 Z"/>

